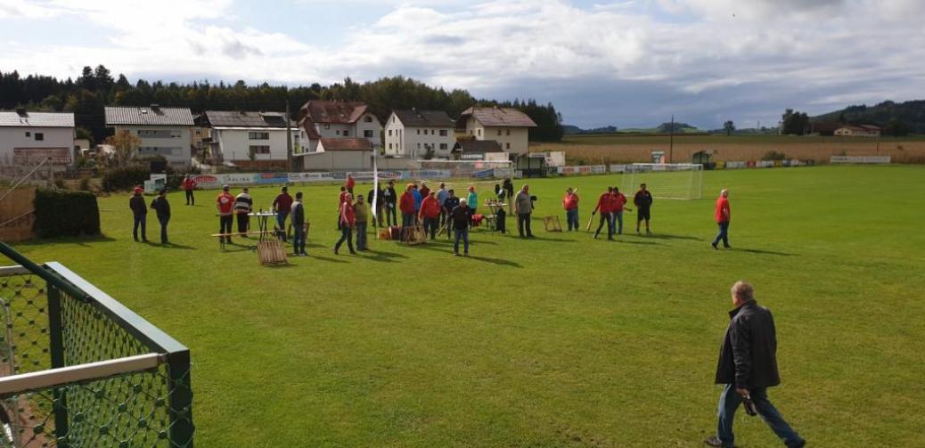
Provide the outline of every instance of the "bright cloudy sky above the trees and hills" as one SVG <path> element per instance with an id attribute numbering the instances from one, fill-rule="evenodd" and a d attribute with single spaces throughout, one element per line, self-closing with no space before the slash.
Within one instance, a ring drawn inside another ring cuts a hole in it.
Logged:
<path id="1" fill-rule="evenodd" d="M 405 75 L 566 124 L 776 125 L 925 98 L 925 0 L 0 0 L 0 71 L 290 85 Z"/>

